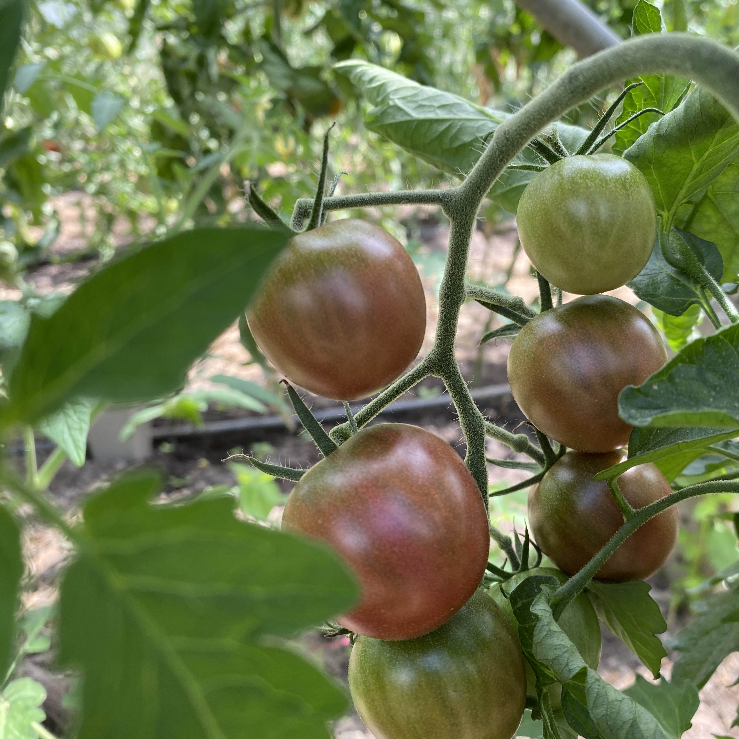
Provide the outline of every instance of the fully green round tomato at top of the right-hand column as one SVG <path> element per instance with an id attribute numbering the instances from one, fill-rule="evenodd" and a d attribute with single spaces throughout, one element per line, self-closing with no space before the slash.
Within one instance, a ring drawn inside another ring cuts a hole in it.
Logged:
<path id="1" fill-rule="evenodd" d="M 657 236 L 652 188 L 613 154 L 565 157 L 539 172 L 523 191 L 517 224 L 531 264 L 578 295 L 626 285 Z"/>

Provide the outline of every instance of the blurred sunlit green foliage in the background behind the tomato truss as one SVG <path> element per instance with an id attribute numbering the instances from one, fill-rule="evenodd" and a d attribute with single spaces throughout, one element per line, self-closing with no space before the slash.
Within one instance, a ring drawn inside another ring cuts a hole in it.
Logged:
<path id="1" fill-rule="evenodd" d="M 636 0 L 587 3 L 630 35 Z M 661 9 L 669 30 L 739 44 L 736 0 Z M 334 120 L 330 175 L 347 171 L 340 192 L 443 183 L 448 175 L 364 129 L 364 103 L 334 74 L 336 61 L 364 58 L 511 110 L 575 60 L 512 0 L 31 0 L 26 22 L 0 121 L 0 277 L 27 307 L 38 302 L 24 281 L 33 265 L 105 261 L 145 234 L 248 219 L 244 180 L 287 218 L 313 194 Z M 571 122 L 592 125 L 609 95 Z M 65 196 L 84 199 L 83 244 L 50 252 Z M 491 225 L 510 217 L 491 204 L 483 215 Z M 417 219 L 390 209 L 382 225 L 414 252 Z M 726 474 L 709 461 L 685 474 Z M 736 558 L 731 505 L 714 496 L 692 511 L 673 605 Z"/>

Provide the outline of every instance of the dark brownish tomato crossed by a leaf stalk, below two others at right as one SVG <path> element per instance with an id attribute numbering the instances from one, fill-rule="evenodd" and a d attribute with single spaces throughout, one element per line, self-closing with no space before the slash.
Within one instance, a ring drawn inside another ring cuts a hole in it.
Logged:
<path id="1" fill-rule="evenodd" d="M 528 494 L 528 520 L 534 539 L 552 562 L 573 575 L 597 554 L 624 522 L 605 482 L 593 477 L 618 464 L 625 452 L 568 452 L 557 460 Z M 619 488 L 633 508 L 644 508 L 672 490 L 653 463 L 632 467 L 619 477 Z M 678 538 L 673 505 L 638 528 L 606 560 L 596 579 L 644 580 L 670 556 Z"/>

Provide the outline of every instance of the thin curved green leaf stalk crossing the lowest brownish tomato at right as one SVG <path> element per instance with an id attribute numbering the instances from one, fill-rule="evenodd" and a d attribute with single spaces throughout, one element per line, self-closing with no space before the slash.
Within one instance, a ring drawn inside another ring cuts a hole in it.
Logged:
<path id="1" fill-rule="evenodd" d="M 587 565 L 576 575 L 571 577 L 564 585 L 557 589 L 554 599 L 552 600 L 552 613 L 554 619 L 559 619 L 562 611 L 568 604 L 582 592 L 582 589 L 588 585 L 595 573 L 605 564 L 608 557 L 616 551 L 631 534 L 641 525 L 644 525 L 650 518 L 655 517 L 662 511 L 666 511 L 671 505 L 680 503 L 681 500 L 705 495 L 708 493 L 739 493 L 739 481 L 736 480 L 711 480 L 707 483 L 697 483 L 688 486 L 682 490 L 678 490 L 670 495 L 661 498 L 661 500 L 645 505 L 644 508 L 637 508 L 629 520 L 624 521 L 621 528 L 613 534 L 601 551 L 590 559 Z"/>

